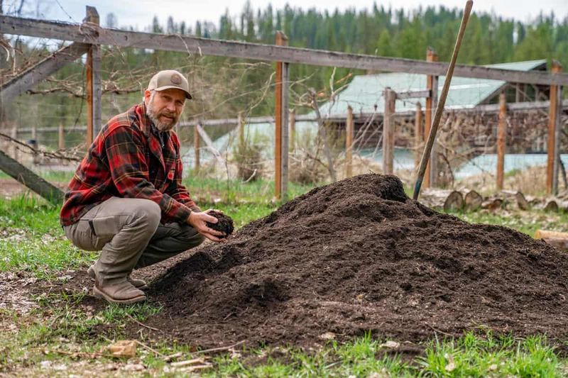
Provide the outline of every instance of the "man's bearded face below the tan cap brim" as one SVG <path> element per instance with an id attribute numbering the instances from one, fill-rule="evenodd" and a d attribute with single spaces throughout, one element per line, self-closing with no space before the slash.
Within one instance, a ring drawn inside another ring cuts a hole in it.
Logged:
<path id="1" fill-rule="evenodd" d="M 146 114 L 160 131 L 171 130 L 180 121 L 185 92 L 181 89 L 164 89 L 163 91 L 145 91 Z"/>

